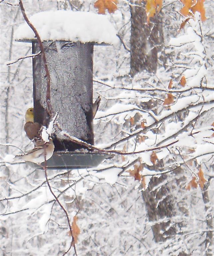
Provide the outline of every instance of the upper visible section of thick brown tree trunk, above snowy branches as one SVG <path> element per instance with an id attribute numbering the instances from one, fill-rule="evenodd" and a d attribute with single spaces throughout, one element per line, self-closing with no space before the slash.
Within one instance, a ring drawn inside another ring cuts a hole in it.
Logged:
<path id="1" fill-rule="evenodd" d="M 163 46 L 162 18 L 158 14 L 150 18 L 147 25 L 145 3 L 141 6 L 131 1 L 130 73 L 146 70 L 156 72 L 158 51 Z"/>

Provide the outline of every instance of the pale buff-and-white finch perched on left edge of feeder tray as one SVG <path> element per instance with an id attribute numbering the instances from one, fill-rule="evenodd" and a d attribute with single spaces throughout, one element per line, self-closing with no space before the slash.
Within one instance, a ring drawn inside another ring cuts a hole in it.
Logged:
<path id="1" fill-rule="evenodd" d="M 48 142 L 44 142 L 42 145 L 35 147 L 24 155 L 17 155 L 13 159 L 13 162 L 18 163 L 22 161 L 29 161 L 36 164 L 41 164 L 52 157 L 54 153 L 54 143 L 50 138 Z M 46 157 L 45 157 L 46 156 Z"/>

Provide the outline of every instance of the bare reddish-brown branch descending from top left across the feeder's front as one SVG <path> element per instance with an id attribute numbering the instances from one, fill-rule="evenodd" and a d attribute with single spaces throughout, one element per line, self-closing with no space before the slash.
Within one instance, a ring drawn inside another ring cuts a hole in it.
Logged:
<path id="1" fill-rule="evenodd" d="M 44 67 L 45 67 L 45 73 L 46 73 L 46 77 L 47 77 L 47 92 L 46 92 L 47 112 L 50 115 L 50 117 L 52 118 L 53 117 L 53 108 L 51 106 L 51 77 L 50 77 L 50 73 L 48 70 L 47 59 L 45 56 L 45 49 L 44 49 L 44 46 L 43 46 L 43 43 L 42 43 L 42 40 L 40 38 L 38 31 L 36 30 L 34 25 L 30 22 L 30 20 L 28 19 L 27 15 L 26 15 L 22 0 L 19 0 L 19 6 L 20 6 L 20 9 L 21 9 L 21 12 L 22 12 L 22 15 L 23 15 L 25 21 L 27 22 L 28 26 L 33 30 L 35 37 L 37 39 L 37 42 L 39 44 L 39 48 L 41 50 L 42 59 L 43 59 Z"/>

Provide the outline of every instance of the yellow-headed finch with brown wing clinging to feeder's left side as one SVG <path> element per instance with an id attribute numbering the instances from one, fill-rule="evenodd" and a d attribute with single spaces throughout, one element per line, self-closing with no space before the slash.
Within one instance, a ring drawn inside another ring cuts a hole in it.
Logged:
<path id="1" fill-rule="evenodd" d="M 42 125 L 39 123 L 34 123 L 34 113 L 33 113 L 33 108 L 29 108 L 26 111 L 25 114 L 25 125 L 24 125 L 24 130 L 26 132 L 27 137 L 30 140 L 33 140 L 35 146 L 40 146 L 44 144 L 45 142 L 43 141 L 40 132 L 42 130 Z"/>

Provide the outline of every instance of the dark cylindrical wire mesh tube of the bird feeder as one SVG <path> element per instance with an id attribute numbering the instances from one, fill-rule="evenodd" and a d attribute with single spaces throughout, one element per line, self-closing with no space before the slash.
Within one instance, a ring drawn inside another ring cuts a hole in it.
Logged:
<path id="1" fill-rule="evenodd" d="M 40 51 L 32 42 L 33 54 Z M 93 50 L 92 43 L 43 42 L 51 76 L 51 105 L 57 122 L 70 135 L 94 144 L 93 133 Z M 47 125 L 45 118 L 47 78 L 41 54 L 33 58 L 34 121 Z M 55 151 L 73 151 L 79 145 L 66 140 L 56 129 Z"/>

